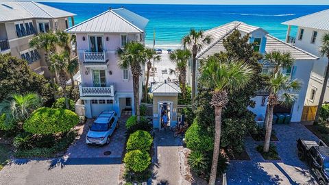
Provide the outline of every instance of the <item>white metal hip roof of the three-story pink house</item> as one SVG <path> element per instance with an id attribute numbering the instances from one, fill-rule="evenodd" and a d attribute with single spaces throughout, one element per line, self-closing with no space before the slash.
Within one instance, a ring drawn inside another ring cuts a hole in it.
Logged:
<path id="1" fill-rule="evenodd" d="M 125 8 L 110 9 L 77 24 L 66 32 L 71 33 L 143 33 L 149 20 Z"/>

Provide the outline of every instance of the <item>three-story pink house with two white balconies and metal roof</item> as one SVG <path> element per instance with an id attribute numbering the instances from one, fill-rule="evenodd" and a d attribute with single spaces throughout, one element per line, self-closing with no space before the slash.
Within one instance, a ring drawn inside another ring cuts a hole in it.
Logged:
<path id="1" fill-rule="evenodd" d="M 111 9 L 78 25 L 67 32 L 76 34 L 80 61 L 80 99 L 84 101 L 86 117 L 98 116 L 103 110 L 123 109 L 134 112 L 134 93 L 130 69 L 118 66 L 117 49 L 127 42 L 145 43 L 146 18 L 125 8 Z M 140 77 L 140 99 L 143 75 Z"/>

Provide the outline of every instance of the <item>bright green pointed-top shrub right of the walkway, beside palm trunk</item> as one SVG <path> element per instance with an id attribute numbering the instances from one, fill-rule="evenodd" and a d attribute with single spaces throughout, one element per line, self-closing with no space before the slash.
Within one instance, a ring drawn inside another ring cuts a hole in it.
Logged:
<path id="1" fill-rule="evenodd" d="M 210 151 L 214 147 L 214 140 L 206 130 L 197 123 L 197 120 L 193 122 L 191 127 L 185 133 L 186 146 L 191 150 Z"/>

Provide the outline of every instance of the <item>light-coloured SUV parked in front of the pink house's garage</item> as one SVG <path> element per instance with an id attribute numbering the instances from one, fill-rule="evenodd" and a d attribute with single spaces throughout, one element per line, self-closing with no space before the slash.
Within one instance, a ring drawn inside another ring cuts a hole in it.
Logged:
<path id="1" fill-rule="evenodd" d="M 118 116 L 114 111 L 103 111 L 91 125 L 86 135 L 90 145 L 108 145 L 114 130 L 119 127 Z"/>

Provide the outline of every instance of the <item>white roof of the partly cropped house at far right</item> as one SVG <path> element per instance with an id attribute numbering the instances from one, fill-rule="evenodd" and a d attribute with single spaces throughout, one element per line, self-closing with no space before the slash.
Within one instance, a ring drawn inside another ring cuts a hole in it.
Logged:
<path id="1" fill-rule="evenodd" d="M 314 14 L 308 14 L 299 18 L 282 23 L 283 25 L 294 25 L 300 27 L 310 27 L 329 31 L 329 9 Z"/>

